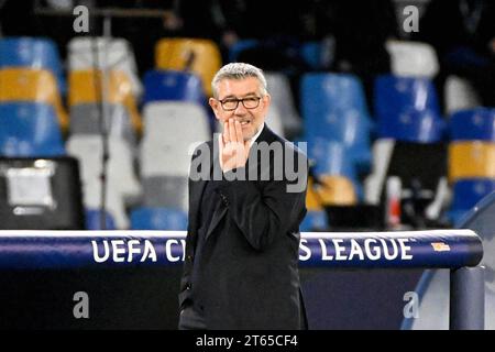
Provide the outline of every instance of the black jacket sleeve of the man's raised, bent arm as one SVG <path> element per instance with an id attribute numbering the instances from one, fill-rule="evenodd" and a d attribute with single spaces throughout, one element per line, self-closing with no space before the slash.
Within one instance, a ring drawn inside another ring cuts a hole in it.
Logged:
<path id="1" fill-rule="evenodd" d="M 226 178 L 232 179 L 229 173 L 242 174 L 245 168 L 226 173 Z M 229 216 L 255 250 L 264 250 L 277 235 L 285 235 L 293 228 L 298 230 L 306 215 L 307 167 L 298 174 L 300 179 L 304 185 L 299 191 L 289 187 L 296 182 L 285 177 L 267 182 L 262 189 L 241 179 L 223 180 L 218 188 Z"/>

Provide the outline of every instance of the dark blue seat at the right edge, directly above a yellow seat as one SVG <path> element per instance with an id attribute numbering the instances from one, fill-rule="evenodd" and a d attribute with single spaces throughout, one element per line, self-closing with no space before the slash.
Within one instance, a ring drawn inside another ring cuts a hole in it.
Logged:
<path id="1" fill-rule="evenodd" d="M 452 114 L 450 136 L 452 141 L 495 142 L 495 109 L 479 108 Z"/>

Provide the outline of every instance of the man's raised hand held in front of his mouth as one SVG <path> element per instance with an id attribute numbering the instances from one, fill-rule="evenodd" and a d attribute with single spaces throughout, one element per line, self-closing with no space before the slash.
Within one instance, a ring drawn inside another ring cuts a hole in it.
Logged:
<path id="1" fill-rule="evenodd" d="M 220 167 L 223 173 L 244 167 L 250 153 L 250 141 L 242 136 L 239 121 L 229 119 L 223 123 L 223 133 L 218 139 L 220 145 Z"/>

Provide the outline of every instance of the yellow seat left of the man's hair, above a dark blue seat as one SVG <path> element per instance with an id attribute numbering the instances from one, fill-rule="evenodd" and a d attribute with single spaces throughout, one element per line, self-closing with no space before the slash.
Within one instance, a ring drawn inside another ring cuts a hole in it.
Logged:
<path id="1" fill-rule="evenodd" d="M 156 43 L 158 69 L 189 70 L 201 77 L 205 92 L 211 96 L 211 80 L 222 59 L 215 42 L 197 38 L 163 38 Z"/>

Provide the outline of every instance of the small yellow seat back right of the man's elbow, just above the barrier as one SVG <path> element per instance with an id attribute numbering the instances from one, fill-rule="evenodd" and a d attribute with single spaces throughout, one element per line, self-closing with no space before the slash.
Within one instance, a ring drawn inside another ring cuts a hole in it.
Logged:
<path id="1" fill-rule="evenodd" d="M 352 182 L 343 176 L 321 176 L 317 193 L 324 206 L 354 206 L 358 201 Z"/>

